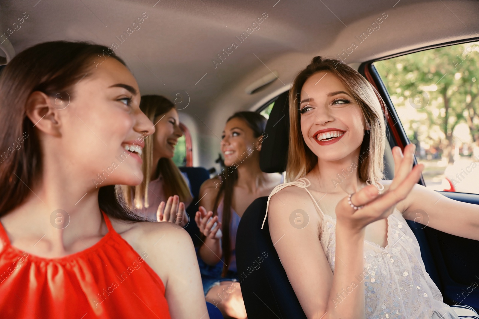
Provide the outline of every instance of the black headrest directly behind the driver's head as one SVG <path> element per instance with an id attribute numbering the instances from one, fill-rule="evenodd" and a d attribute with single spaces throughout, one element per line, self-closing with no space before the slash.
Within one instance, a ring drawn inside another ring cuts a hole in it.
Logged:
<path id="1" fill-rule="evenodd" d="M 260 168 L 265 173 L 282 173 L 286 170 L 289 144 L 288 92 L 282 93 L 274 101 L 266 123 L 266 134 L 260 152 Z"/>

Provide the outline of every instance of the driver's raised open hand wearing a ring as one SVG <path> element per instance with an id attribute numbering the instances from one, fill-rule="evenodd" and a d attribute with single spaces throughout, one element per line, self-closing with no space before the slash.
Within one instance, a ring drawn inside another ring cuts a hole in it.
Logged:
<path id="1" fill-rule="evenodd" d="M 396 204 L 404 200 L 411 192 L 414 184 L 421 177 L 424 165 L 419 164 L 411 169 L 414 162 L 414 144 L 409 144 L 404 149 L 395 146 L 392 149 L 394 157 L 394 178 L 387 186 L 387 191 L 379 194 L 374 185 L 364 187 L 353 194 L 351 202 L 354 206 L 363 206 L 360 209 L 353 209 L 348 203 L 348 197 L 343 198 L 336 206 L 336 217 L 338 222 L 353 231 L 361 231 L 367 224 L 373 221 L 387 218 Z"/>

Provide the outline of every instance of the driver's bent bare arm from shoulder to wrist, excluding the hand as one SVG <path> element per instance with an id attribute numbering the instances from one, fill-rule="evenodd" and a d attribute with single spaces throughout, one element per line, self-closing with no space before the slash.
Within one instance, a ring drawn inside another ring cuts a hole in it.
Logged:
<path id="1" fill-rule="evenodd" d="M 298 209 L 307 216 L 296 215 L 303 214 Z M 308 225 L 292 225 L 292 213 L 294 218 L 308 218 Z M 268 222 L 274 247 L 308 318 L 365 318 L 364 284 L 357 279 L 364 270 L 364 231 L 351 236 L 339 227 L 333 275 L 319 242 L 319 212 L 304 189 L 291 186 L 275 194 Z"/>

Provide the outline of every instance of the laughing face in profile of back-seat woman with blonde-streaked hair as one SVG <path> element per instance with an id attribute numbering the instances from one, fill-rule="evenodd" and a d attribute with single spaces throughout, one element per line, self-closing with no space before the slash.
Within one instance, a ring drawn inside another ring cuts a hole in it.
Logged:
<path id="1" fill-rule="evenodd" d="M 153 157 L 158 159 L 162 157 L 172 158 L 176 143 L 183 135 L 178 112 L 172 108 L 165 114 L 157 116 L 154 122 L 156 123 L 156 131 L 154 134 Z"/>

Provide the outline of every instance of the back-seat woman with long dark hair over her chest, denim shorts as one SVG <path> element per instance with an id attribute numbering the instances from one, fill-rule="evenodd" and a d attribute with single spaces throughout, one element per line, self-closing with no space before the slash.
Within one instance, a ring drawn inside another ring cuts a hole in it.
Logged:
<path id="1" fill-rule="evenodd" d="M 260 169 L 265 127 L 266 119 L 256 112 L 237 112 L 229 117 L 221 141 L 227 167 L 200 188 L 200 211 L 195 221 L 205 236 L 199 249 L 203 288 L 206 301 L 216 305 L 226 318 L 246 318 L 236 282 L 239 219 L 254 199 L 268 196 L 282 183 L 281 175 Z"/>

